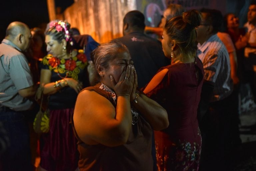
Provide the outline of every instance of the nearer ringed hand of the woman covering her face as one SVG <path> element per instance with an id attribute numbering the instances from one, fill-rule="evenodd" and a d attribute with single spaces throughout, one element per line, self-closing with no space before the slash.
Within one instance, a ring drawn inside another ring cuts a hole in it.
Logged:
<path id="1" fill-rule="evenodd" d="M 134 67 L 128 65 L 116 83 L 113 76 L 110 75 L 110 81 L 117 96 L 130 96 L 133 89 L 134 82 Z"/>

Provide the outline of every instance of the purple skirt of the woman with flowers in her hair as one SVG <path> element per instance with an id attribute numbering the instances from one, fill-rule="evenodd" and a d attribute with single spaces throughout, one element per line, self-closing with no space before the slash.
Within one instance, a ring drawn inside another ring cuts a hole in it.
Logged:
<path id="1" fill-rule="evenodd" d="M 48 171 L 74 171 L 78 167 L 77 140 L 69 123 L 73 111 L 50 111 L 50 131 L 41 135 L 40 142 L 40 166 Z"/>

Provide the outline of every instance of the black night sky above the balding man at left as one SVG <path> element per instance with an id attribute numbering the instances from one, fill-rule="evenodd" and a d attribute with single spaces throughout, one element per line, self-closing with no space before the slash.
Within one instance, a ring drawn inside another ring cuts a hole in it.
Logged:
<path id="1" fill-rule="evenodd" d="M 55 0 L 55 7 L 60 6 L 65 10 L 73 3 L 73 0 Z M 13 21 L 24 22 L 29 28 L 49 22 L 47 0 L 0 0 L 0 8 L 0 41 Z"/>

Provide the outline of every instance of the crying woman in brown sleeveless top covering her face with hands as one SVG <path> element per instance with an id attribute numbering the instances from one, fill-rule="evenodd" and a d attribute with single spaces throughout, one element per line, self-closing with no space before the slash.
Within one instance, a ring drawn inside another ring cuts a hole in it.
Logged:
<path id="1" fill-rule="evenodd" d="M 80 170 L 152 171 L 152 128 L 169 125 L 165 109 L 136 90 L 136 71 L 123 44 L 101 44 L 93 58 L 100 83 L 79 93 L 73 116 Z"/>

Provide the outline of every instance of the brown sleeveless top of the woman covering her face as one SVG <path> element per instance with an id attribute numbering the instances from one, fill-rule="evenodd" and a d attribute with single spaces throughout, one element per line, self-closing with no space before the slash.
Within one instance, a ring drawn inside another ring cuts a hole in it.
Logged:
<path id="1" fill-rule="evenodd" d="M 100 83 L 83 90 L 95 91 L 107 98 L 113 106 L 115 101 L 111 94 L 100 89 Z M 83 91 L 82 90 L 82 91 Z M 138 122 L 132 125 L 128 141 L 124 145 L 108 147 L 102 144 L 85 144 L 77 135 L 71 118 L 74 133 L 78 139 L 80 171 L 152 171 L 151 155 L 152 129 L 149 123 L 139 114 Z M 132 124 L 132 123 L 131 123 Z"/>

